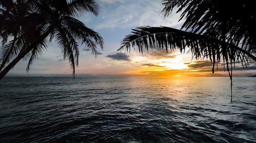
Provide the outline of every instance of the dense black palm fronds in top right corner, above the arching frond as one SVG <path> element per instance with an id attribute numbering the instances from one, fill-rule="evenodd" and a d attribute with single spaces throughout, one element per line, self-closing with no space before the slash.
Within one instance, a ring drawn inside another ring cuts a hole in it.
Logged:
<path id="1" fill-rule="evenodd" d="M 231 4 L 232 3 L 232 4 Z M 184 19 L 182 28 L 193 33 L 225 37 L 225 41 L 241 44 L 246 50 L 255 51 L 256 13 L 254 4 L 249 0 L 233 2 L 227 0 L 162 0 L 161 11 L 164 18 L 177 6 Z"/>

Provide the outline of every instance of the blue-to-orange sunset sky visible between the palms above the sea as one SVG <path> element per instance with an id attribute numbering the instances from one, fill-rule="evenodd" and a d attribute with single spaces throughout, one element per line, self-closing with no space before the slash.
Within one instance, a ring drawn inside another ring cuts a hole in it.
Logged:
<path id="1" fill-rule="evenodd" d="M 137 48 L 130 52 L 117 52 L 121 41 L 138 26 L 168 26 L 180 29 L 183 22 L 180 13 L 172 13 L 163 19 L 160 15 L 162 0 L 99 0 L 100 11 L 96 17 L 85 13 L 81 20 L 88 28 L 98 32 L 104 39 L 104 48 L 98 49 L 97 58 L 86 47 L 79 47 L 79 66 L 76 76 L 83 74 L 143 74 L 170 76 L 228 76 L 222 72 L 220 64 L 218 72 L 212 74 L 211 61 L 207 59 L 193 60 L 191 54 L 177 51 L 149 50 L 142 55 Z M 21 60 L 7 76 L 11 75 L 67 75 L 72 76 L 68 61 L 63 60 L 57 43 L 49 43 L 43 55 L 36 59 L 26 72 L 28 61 Z M 248 68 L 250 69 L 250 67 Z M 254 67 L 255 69 L 255 67 Z M 254 75 L 255 70 L 243 70 L 236 66 L 237 75 Z"/>

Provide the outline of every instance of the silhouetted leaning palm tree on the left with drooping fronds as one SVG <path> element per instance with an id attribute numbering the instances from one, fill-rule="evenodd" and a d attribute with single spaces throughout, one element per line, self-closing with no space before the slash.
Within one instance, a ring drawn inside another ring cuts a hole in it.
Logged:
<path id="1" fill-rule="evenodd" d="M 98 15 L 97 0 L 2 0 L 0 1 L 0 80 L 22 58 L 32 62 L 55 40 L 75 75 L 79 45 L 103 49 L 103 38 L 77 18 L 85 12 Z"/>

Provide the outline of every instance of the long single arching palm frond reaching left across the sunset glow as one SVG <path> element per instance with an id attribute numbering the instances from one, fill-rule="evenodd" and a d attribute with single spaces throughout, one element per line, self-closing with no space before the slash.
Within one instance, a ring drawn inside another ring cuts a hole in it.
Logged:
<path id="1" fill-rule="evenodd" d="M 143 53 L 144 48 L 148 50 L 148 48 L 159 47 L 165 48 L 166 52 L 168 48 L 184 52 L 186 48 L 189 48 L 193 58 L 209 58 L 213 62 L 213 72 L 214 64 L 221 61 L 233 63 L 240 61 L 246 65 L 247 57 L 256 60 L 252 53 L 232 43 L 174 28 L 141 26 L 133 29 L 132 33 L 124 38 L 118 51 L 137 47 Z"/>

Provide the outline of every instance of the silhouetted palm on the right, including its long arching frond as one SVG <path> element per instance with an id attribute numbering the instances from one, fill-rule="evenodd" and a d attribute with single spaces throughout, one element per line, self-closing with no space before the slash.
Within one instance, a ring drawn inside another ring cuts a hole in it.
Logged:
<path id="1" fill-rule="evenodd" d="M 226 63 L 231 79 L 232 66 L 239 61 L 247 67 L 248 60 L 256 61 L 256 13 L 252 1 L 226 0 L 162 0 L 162 16 L 167 18 L 177 6 L 184 19 L 181 29 L 165 26 L 140 26 L 132 29 L 121 42 L 118 51 L 138 47 L 176 48 L 192 52 L 193 58 L 209 58 L 213 63 Z M 231 69 L 231 70 L 230 70 Z"/>

